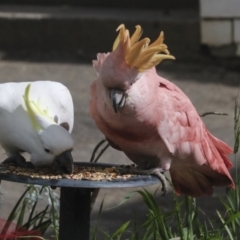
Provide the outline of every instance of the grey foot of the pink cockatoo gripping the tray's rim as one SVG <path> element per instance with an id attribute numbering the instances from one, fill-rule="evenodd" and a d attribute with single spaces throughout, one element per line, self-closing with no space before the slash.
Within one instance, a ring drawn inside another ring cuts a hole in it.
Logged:
<path id="1" fill-rule="evenodd" d="M 120 174 L 153 175 L 156 176 L 162 184 L 162 196 L 167 194 L 167 180 L 162 168 L 142 169 L 136 165 L 122 165 L 117 169 Z"/>

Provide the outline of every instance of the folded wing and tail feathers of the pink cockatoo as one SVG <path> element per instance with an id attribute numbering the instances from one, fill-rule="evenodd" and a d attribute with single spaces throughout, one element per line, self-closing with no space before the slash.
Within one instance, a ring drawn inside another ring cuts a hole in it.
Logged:
<path id="1" fill-rule="evenodd" d="M 228 171 L 232 163 L 227 158 L 232 149 L 209 133 L 176 85 L 163 78 L 160 83 L 159 105 L 161 108 L 168 102 L 168 107 L 164 108 L 158 131 L 173 155 L 170 174 L 176 192 L 197 197 L 212 194 L 213 186 L 234 187 Z"/>

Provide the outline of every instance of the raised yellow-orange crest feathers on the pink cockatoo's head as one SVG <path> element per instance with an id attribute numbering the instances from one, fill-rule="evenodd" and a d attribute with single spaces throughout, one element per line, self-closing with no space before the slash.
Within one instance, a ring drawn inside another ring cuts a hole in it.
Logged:
<path id="1" fill-rule="evenodd" d="M 174 56 L 170 55 L 167 45 L 163 44 L 163 32 L 160 33 L 155 42 L 149 45 L 149 38 L 139 40 L 142 35 L 140 25 L 136 26 L 136 30 L 131 37 L 124 24 L 121 24 L 117 28 L 117 31 L 119 31 L 119 34 L 113 44 L 113 51 L 121 43 L 124 48 L 126 63 L 130 67 L 138 68 L 140 72 L 158 65 L 164 59 L 175 59 Z"/>

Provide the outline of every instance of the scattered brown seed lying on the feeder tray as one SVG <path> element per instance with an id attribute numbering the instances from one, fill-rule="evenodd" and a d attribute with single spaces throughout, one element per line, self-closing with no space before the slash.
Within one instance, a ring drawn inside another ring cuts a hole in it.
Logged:
<path id="1" fill-rule="evenodd" d="M 88 166 L 74 166 L 73 174 L 62 174 L 52 168 L 22 168 L 12 165 L 0 164 L 0 173 L 15 174 L 21 176 L 27 176 L 31 178 L 41 179 L 74 179 L 74 180 L 93 180 L 93 181 L 112 181 L 112 180 L 126 180 L 136 175 L 120 174 L 118 169 L 121 170 L 121 166 L 118 167 L 88 167 Z"/>

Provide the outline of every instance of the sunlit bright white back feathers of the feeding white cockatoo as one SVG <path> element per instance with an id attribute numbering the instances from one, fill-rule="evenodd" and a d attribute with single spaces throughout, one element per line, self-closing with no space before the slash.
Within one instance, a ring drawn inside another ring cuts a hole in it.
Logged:
<path id="1" fill-rule="evenodd" d="M 67 123 L 71 133 L 74 122 L 73 102 L 69 90 L 61 83 L 36 81 L 0 84 L 0 108 L 13 113 L 21 105 L 26 110 L 23 95 L 28 84 L 31 84 L 31 101 L 48 111 L 58 125 Z"/>

